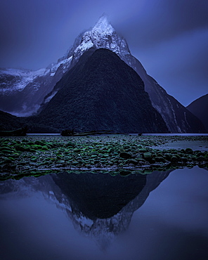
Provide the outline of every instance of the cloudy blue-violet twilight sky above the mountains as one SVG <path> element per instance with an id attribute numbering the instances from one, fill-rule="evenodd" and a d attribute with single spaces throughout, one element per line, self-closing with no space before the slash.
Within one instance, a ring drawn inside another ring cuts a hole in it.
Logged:
<path id="1" fill-rule="evenodd" d="M 0 67 L 56 62 L 103 13 L 180 103 L 208 93 L 207 0 L 1 0 Z"/>

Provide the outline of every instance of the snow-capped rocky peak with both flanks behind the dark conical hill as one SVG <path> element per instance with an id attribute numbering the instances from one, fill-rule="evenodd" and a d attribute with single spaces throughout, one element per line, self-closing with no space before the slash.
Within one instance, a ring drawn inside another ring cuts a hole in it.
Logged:
<path id="1" fill-rule="evenodd" d="M 105 15 L 91 30 L 79 34 L 72 48 L 58 60 L 58 63 L 37 72 L 19 73 L 20 71 L 16 70 L 1 70 L 0 110 L 11 112 L 13 115 L 20 113 L 20 115 L 26 116 L 32 115 L 32 112 L 41 111 L 45 108 L 46 103 L 56 95 L 56 83 L 65 72 L 77 64 L 79 58 L 90 48 L 107 48 L 115 52 L 139 74 L 145 84 L 145 91 L 150 96 L 152 106 L 157 112 L 160 112 L 169 131 L 175 133 L 204 132 L 204 126 L 200 120 L 176 99 L 169 96 L 155 79 L 145 72 L 141 63 L 131 55 L 126 40 L 117 34 Z"/>

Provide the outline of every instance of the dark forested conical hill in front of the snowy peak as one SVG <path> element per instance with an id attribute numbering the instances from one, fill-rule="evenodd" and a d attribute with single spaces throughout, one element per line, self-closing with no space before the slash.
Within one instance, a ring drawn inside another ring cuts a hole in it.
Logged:
<path id="1" fill-rule="evenodd" d="M 90 53 L 91 54 L 91 53 Z M 35 121 L 76 131 L 167 132 L 138 74 L 115 53 L 98 49 L 56 84 Z"/>

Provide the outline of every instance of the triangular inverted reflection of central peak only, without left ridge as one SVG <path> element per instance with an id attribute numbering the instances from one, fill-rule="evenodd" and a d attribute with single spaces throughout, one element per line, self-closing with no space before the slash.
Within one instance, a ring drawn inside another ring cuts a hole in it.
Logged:
<path id="1" fill-rule="evenodd" d="M 74 226 L 91 235 L 105 249 L 114 235 L 129 227 L 134 211 L 141 207 L 170 171 L 152 174 L 110 176 L 110 174 L 53 174 L 52 178 L 67 198 L 67 211 Z M 58 196 L 57 196 L 58 198 Z M 60 200 L 60 197 L 58 199 Z"/>

